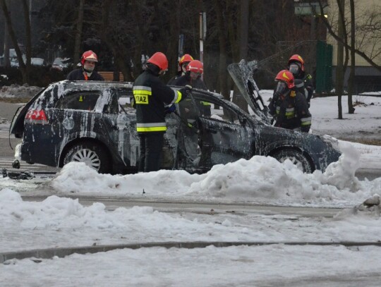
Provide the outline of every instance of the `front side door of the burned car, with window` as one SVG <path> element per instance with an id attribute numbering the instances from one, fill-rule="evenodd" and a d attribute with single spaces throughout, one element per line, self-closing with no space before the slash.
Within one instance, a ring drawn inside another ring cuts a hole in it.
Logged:
<path id="1" fill-rule="evenodd" d="M 243 114 L 217 97 L 191 98 L 191 107 L 198 116 L 194 123 L 191 123 L 193 118 L 186 121 L 197 130 L 197 164 L 201 171 L 207 171 L 215 164 L 252 157 L 253 130 Z M 182 117 L 186 118 L 184 114 Z"/>

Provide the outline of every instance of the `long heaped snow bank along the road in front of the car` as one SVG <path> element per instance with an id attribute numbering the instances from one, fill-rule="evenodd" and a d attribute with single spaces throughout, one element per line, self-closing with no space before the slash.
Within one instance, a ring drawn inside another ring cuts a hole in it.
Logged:
<path id="1" fill-rule="evenodd" d="M 216 165 L 198 175 L 186 171 L 156 171 L 126 176 L 98 174 L 83 163 L 71 162 L 49 185 L 60 193 L 92 195 L 173 196 L 227 198 L 229 200 L 353 200 L 362 202 L 374 193 L 381 195 L 381 178 L 358 181 L 354 176 L 359 154 L 353 147 L 343 149 L 339 161 L 327 171 L 303 173 L 291 163 L 272 157 L 255 156 Z"/>

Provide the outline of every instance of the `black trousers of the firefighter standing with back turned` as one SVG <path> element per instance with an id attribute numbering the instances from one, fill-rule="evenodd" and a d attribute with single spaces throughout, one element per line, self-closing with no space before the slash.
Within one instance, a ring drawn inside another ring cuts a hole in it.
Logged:
<path id="1" fill-rule="evenodd" d="M 139 171 L 158 171 L 164 144 L 164 133 L 140 133 Z"/>

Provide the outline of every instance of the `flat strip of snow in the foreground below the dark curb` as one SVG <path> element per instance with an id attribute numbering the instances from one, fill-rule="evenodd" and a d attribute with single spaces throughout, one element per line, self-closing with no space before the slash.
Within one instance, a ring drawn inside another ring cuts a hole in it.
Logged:
<path id="1" fill-rule="evenodd" d="M 380 286 L 380 248 L 142 248 L 0 266 L 6 286 Z M 2 277 L 2 278 L 1 278 Z M 343 283 L 344 282 L 344 283 Z"/>

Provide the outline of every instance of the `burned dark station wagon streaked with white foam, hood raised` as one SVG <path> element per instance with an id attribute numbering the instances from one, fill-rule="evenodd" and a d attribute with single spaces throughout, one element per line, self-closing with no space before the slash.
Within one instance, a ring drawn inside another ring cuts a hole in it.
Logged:
<path id="1" fill-rule="evenodd" d="M 172 87 L 174 90 L 180 87 Z M 61 167 L 83 161 L 101 173 L 134 173 L 139 138 L 131 83 L 68 81 L 49 85 L 13 117 L 22 142 L 16 159 Z M 204 173 L 254 155 L 291 159 L 322 171 L 339 152 L 316 135 L 274 128 L 213 92 L 193 89 L 166 116 L 162 169 Z"/>

